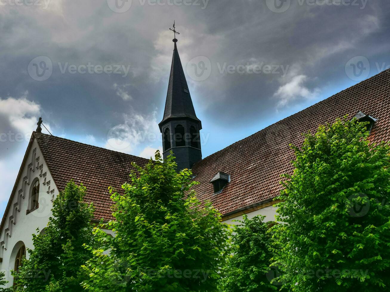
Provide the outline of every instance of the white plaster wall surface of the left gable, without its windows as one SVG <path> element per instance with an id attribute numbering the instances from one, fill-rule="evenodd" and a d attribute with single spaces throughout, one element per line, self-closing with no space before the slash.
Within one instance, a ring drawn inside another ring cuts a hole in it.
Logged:
<path id="1" fill-rule="evenodd" d="M 32 188 L 32 183 L 35 178 L 39 179 L 39 208 L 26 215 L 30 189 Z M 25 181 L 27 181 L 27 185 L 25 185 Z M 19 198 L 20 192 L 24 192 L 23 199 Z M 7 221 L 4 225 L 4 230 L 1 230 L 0 257 L 2 257 L 3 262 L 0 264 L 0 269 L 5 273 L 6 280 L 9 281 L 7 287 L 11 287 L 13 284 L 11 270 L 14 269 L 14 260 L 18 249 L 22 244 L 24 244 L 26 248 L 34 248 L 32 244 L 32 234 L 36 233 L 37 228 L 42 230 L 46 227 L 49 217 L 52 215 L 52 200 L 57 194 L 57 187 L 55 186 L 41 150 L 35 140 L 30 150 L 25 168 L 23 169 L 21 179 L 18 182 L 18 188 L 12 202 L 12 208 L 5 217 L 7 218 Z M 14 204 L 17 202 L 18 211 L 14 211 Z M 11 215 L 14 215 L 16 218 L 10 219 Z M 11 223 L 11 220 L 15 220 L 15 224 L 13 222 Z M 9 231 L 7 229 L 9 229 Z M 28 258 L 28 252 L 26 256 Z"/>

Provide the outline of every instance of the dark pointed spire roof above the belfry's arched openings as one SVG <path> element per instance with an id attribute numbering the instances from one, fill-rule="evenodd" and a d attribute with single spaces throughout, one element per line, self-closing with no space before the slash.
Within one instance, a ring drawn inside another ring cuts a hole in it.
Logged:
<path id="1" fill-rule="evenodd" d="M 177 40 L 176 40 L 177 41 Z M 184 91 L 186 88 L 186 91 Z M 168 120 L 178 118 L 191 118 L 199 121 L 199 127 L 202 128 L 200 120 L 195 114 L 195 109 L 192 104 L 190 90 L 188 89 L 186 77 L 184 76 L 183 67 L 181 65 L 179 52 L 175 42 L 175 47 L 172 56 L 172 65 L 168 83 L 167 100 L 165 102 L 165 110 L 161 125 Z"/>

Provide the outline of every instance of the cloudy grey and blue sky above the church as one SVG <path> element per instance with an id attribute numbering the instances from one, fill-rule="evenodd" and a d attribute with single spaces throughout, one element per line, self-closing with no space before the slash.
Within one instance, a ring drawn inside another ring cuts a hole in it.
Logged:
<path id="1" fill-rule="evenodd" d="M 0 212 L 40 115 L 67 139 L 161 148 L 174 19 L 206 157 L 389 68 L 389 14 L 384 0 L 0 0 Z"/>

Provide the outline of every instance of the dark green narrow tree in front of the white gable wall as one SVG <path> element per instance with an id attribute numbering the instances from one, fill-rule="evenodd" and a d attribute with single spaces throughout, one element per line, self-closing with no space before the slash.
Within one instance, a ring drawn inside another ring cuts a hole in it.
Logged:
<path id="1" fill-rule="evenodd" d="M 85 187 L 69 182 L 53 202 L 53 217 L 42 234 L 33 234 L 34 250 L 14 273 L 18 291 L 83 291 L 81 269 L 94 246 L 92 204 L 83 202 Z"/>

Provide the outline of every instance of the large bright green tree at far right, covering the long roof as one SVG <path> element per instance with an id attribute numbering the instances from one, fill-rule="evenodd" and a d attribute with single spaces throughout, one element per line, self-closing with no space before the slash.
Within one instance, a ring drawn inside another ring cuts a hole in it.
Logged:
<path id="1" fill-rule="evenodd" d="M 390 149 L 366 126 L 337 119 L 293 146 L 274 258 L 291 291 L 390 289 Z"/>

